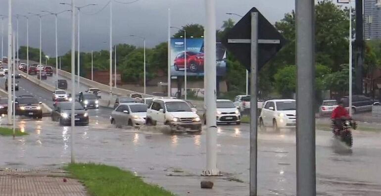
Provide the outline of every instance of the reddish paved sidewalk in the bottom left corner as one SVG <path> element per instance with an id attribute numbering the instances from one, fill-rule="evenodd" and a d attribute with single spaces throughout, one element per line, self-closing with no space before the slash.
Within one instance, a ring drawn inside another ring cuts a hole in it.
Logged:
<path id="1" fill-rule="evenodd" d="M 85 187 L 67 175 L 62 170 L 0 169 L 0 196 L 87 196 Z"/>

